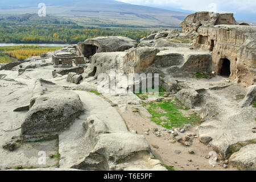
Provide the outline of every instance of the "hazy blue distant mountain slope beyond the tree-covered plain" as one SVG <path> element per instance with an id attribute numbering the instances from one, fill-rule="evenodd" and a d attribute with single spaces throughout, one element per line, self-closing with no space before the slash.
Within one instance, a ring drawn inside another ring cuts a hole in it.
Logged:
<path id="1" fill-rule="evenodd" d="M 114 0 L 1 0 L 0 14 L 35 14 L 41 2 L 46 3 L 49 15 L 69 18 L 81 25 L 101 27 L 177 27 L 188 15 Z"/>

